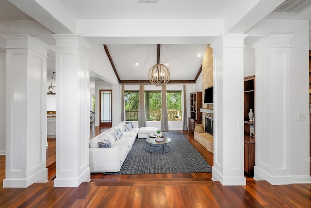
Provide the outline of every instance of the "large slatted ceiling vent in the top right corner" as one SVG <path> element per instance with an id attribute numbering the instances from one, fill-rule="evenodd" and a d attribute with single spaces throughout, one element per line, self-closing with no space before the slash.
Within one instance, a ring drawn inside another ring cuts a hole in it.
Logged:
<path id="1" fill-rule="evenodd" d="M 272 14 L 298 14 L 311 6 L 311 0 L 286 0 Z"/>

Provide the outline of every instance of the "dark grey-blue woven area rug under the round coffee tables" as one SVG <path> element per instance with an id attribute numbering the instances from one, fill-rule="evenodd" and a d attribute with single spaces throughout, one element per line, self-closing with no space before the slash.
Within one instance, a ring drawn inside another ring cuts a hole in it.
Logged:
<path id="1" fill-rule="evenodd" d="M 120 172 L 104 172 L 107 175 L 212 172 L 211 166 L 194 149 L 181 132 L 164 132 L 172 141 L 172 150 L 154 154 L 145 150 L 145 139 L 136 139 Z"/>

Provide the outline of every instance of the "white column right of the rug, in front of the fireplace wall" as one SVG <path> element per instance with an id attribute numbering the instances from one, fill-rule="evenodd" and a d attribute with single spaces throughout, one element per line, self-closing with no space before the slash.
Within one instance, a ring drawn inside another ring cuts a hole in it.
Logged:
<path id="1" fill-rule="evenodd" d="M 223 34 L 211 45 L 214 57 L 214 181 L 245 185 L 244 38 Z"/>

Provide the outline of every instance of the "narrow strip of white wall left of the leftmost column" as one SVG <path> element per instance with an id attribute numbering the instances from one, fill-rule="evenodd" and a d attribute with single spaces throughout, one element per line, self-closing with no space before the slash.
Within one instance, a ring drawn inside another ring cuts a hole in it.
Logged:
<path id="1" fill-rule="evenodd" d="M 5 154 L 6 52 L 0 53 L 0 155 Z"/>

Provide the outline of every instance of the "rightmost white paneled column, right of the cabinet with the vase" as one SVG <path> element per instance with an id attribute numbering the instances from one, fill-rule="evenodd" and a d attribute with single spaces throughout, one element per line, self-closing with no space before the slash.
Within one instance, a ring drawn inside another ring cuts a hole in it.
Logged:
<path id="1" fill-rule="evenodd" d="M 270 34 L 254 45 L 256 145 L 254 178 L 291 184 L 290 51 L 294 34 Z"/>

